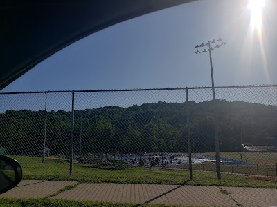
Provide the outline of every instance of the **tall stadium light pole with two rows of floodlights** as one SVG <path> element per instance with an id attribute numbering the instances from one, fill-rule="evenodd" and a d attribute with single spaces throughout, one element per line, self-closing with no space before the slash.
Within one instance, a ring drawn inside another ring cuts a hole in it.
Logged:
<path id="1" fill-rule="evenodd" d="M 211 66 L 211 81 L 212 81 L 212 92 L 213 92 L 213 101 L 215 101 L 215 82 L 213 80 L 213 61 L 211 51 L 215 50 L 215 48 L 220 48 L 221 46 L 225 46 L 226 42 L 222 42 L 221 44 L 217 44 L 214 47 L 211 47 L 211 43 L 216 43 L 222 41 L 221 38 L 213 41 L 208 41 L 208 43 L 195 46 L 195 48 L 202 48 L 204 46 L 208 46 L 208 50 L 204 49 L 202 51 L 197 50 L 195 54 L 199 54 L 202 52 L 208 52 L 210 56 L 210 66 Z M 217 179 L 221 179 L 220 175 L 220 140 L 218 138 L 218 115 L 217 112 L 215 114 L 215 157 L 216 157 L 216 167 L 217 167 Z"/>

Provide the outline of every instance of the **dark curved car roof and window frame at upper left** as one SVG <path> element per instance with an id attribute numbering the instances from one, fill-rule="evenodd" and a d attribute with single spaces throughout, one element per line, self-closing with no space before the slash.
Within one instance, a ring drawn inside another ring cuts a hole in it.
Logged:
<path id="1" fill-rule="evenodd" d="M 40 61 L 89 34 L 191 1 L 3 1 L 0 6 L 0 90 Z"/>

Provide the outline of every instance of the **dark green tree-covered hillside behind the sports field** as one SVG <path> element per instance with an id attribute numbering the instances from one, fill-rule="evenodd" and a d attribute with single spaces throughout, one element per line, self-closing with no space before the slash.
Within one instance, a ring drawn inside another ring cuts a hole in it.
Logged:
<path id="1" fill-rule="evenodd" d="M 74 153 L 214 152 L 215 112 L 220 150 L 240 151 L 241 144 L 276 142 L 277 106 L 225 100 L 195 103 L 145 103 L 122 108 L 76 110 Z M 46 146 L 52 155 L 69 152 L 71 112 L 6 110 L 0 114 L 0 147 L 8 153 L 33 155 Z M 189 121 L 189 122 L 188 122 Z"/>

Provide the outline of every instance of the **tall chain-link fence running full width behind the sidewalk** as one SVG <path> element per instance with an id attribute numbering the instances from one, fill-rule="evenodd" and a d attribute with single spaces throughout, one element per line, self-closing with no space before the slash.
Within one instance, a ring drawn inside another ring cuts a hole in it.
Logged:
<path id="1" fill-rule="evenodd" d="M 24 179 L 277 178 L 277 86 L 0 93 L 0 154 Z"/>

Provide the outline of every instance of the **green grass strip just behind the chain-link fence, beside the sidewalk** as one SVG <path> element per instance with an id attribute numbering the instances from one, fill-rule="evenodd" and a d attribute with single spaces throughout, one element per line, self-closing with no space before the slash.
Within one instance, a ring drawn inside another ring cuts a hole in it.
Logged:
<path id="1" fill-rule="evenodd" d="M 91 164 L 73 163 L 73 175 L 69 175 L 69 163 L 55 157 L 10 156 L 22 166 L 24 179 L 43 179 L 79 182 L 112 182 L 122 184 L 190 184 L 208 186 L 249 186 L 277 188 L 276 181 L 256 181 L 247 175 L 222 173 L 222 180 L 217 181 L 215 172 L 193 171 L 193 180 L 189 179 L 188 170 L 167 168 L 111 168 L 92 166 Z M 215 164 L 213 164 L 215 166 Z"/>

